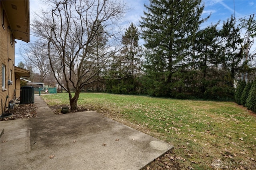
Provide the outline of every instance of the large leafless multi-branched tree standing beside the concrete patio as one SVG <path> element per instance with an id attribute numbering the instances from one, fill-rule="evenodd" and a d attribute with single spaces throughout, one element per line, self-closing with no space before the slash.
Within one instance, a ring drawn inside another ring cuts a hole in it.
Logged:
<path id="1" fill-rule="evenodd" d="M 32 26 L 48 46 L 56 81 L 68 92 L 71 109 L 76 109 L 83 87 L 102 80 L 102 71 L 108 69 L 112 56 L 121 50 L 122 30 L 118 23 L 126 5 L 112 0 L 50 0 L 46 5 L 51 10 L 42 11 Z M 99 36 L 108 41 L 100 53 L 93 55 Z M 56 63 L 58 68 L 54 67 Z M 59 71 L 65 85 L 57 76 Z"/>

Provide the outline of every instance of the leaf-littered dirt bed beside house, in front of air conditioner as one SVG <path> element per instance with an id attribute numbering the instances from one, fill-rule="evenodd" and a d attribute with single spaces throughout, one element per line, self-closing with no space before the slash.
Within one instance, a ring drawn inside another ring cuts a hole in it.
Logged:
<path id="1" fill-rule="evenodd" d="M 17 108 L 10 109 L 10 113 L 12 113 L 13 116 L 4 118 L 3 121 L 37 117 L 36 109 L 37 107 L 34 103 L 20 104 Z M 6 112 L 6 113 L 9 113 L 9 112 Z"/>

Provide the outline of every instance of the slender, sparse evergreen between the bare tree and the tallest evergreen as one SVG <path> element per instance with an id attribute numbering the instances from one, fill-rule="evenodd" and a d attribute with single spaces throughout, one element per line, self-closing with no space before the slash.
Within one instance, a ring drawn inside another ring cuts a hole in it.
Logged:
<path id="1" fill-rule="evenodd" d="M 136 75 L 140 73 L 140 54 L 141 46 L 138 45 L 139 32 L 134 24 L 130 24 L 122 36 L 122 44 L 124 48 L 120 55 L 114 56 L 115 63 L 110 67 L 112 71 L 110 74 L 121 78 L 126 75 L 124 79 L 115 79 L 106 81 L 106 89 L 110 93 L 135 94 Z"/>

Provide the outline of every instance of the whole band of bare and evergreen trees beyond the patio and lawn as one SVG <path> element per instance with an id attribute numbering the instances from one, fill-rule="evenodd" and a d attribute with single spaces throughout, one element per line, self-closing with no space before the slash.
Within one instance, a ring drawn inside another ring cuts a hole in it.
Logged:
<path id="1" fill-rule="evenodd" d="M 32 22 L 38 42 L 22 55 L 40 81 L 54 77 L 69 93 L 71 109 L 82 91 L 234 100 L 237 82 L 256 77 L 254 15 L 202 27 L 210 18 L 202 18 L 202 0 L 150 0 L 139 31 L 133 23 L 120 29 L 127 7 L 118 1 L 45 3 Z"/>

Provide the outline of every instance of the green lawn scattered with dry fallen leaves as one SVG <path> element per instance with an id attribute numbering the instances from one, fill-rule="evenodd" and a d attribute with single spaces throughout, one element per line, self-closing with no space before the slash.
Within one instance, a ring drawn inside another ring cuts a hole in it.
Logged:
<path id="1" fill-rule="evenodd" d="M 67 93 L 42 98 L 49 106 L 69 103 Z M 78 107 L 174 145 L 146 170 L 256 169 L 256 114 L 236 103 L 81 93 Z"/>

